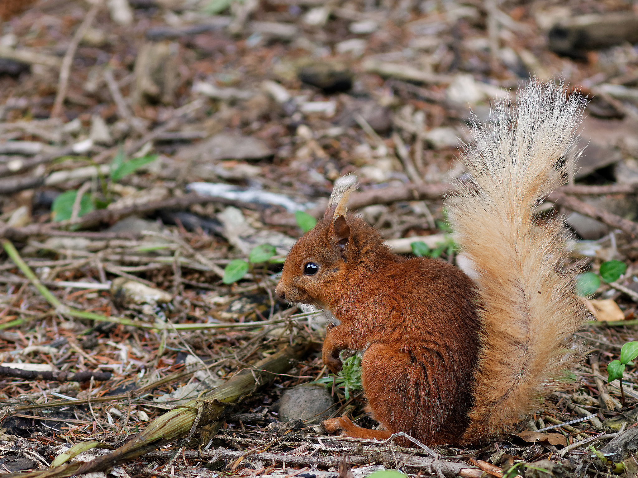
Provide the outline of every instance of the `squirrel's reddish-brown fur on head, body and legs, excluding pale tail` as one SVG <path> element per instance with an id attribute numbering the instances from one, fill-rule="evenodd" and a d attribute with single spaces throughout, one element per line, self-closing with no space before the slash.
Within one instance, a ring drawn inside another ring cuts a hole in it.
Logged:
<path id="1" fill-rule="evenodd" d="M 348 435 L 387 438 L 404 431 L 429 444 L 453 442 L 467 425 L 477 359 L 473 283 L 440 260 L 390 253 L 375 229 L 346 216 L 350 236 L 341 257 L 329 208 L 292 247 L 279 296 L 315 303 L 341 321 L 323 342 L 323 361 L 341 370 L 339 352 L 363 350 L 362 379 L 373 417 L 388 431 L 335 419 Z M 302 274 L 313 261 L 320 271 Z"/>

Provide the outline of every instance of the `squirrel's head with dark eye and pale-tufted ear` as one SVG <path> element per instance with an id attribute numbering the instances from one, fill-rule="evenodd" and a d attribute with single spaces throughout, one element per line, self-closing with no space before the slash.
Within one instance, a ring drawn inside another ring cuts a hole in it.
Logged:
<path id="1" fill-rule="evenodd" d="M 353 175 L 335 182 L 323 219 L 288 252 L 276 289 L 280 298 L 323 308 L 330 296 L 339 293 L 356 254 L 353 229 L 371 229 L 375 234 L 362 219 L 347 214 L 346 202 L 356 183 Z"/>

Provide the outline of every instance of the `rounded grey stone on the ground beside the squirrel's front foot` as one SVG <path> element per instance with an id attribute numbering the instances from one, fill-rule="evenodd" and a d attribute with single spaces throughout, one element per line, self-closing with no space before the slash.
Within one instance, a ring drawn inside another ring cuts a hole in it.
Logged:
<path id="1" fill-rule="evenodd" d="M 334 398 L 322 385 L 302 384 L 286 390 L 279 399 L 279 420 L 304 420 L 306 423 L 320 423 L 334 410 Z"/>

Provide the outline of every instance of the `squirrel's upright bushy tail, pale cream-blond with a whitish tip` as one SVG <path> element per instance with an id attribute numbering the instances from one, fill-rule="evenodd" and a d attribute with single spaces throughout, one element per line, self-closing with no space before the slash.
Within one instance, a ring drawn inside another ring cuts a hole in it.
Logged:
<path id="1" fill-rule="evenodd" d="M 487 126 L 475 126 L 464 154 L 471 180 L 449 201 L 482 300 L 482 353 L 464 442 L 507 431 L 560 389 L 570 336 L 583 320 L 574 273 L 561 272 L 563 225 L 533 213 L 566 177 L 582 108 L 556 86 L 534 82 L 513 112 L 500 105 L 494 113 Z"/>

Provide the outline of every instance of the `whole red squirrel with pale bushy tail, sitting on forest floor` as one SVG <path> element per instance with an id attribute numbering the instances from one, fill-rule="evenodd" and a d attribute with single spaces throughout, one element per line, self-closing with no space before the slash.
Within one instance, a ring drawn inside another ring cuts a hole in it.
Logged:
<path id="1" fill-rule="evenodd" d="M 563 270 L 563 224 L 539 221 L 534 207 L 567 177 L 581 113 L 559 87 L 533 82 L 513 112 L 501 104 L 486 126 L 475 124 L 464 150 L 471 179 L 447 201 L 457 262 L 471 279 L 440 259 L 392 254 L 347 212 L 353 177 L 336 181 L 323 219 L 288 253 L 276 293 L 341 322 L 327 331 L 323 363 L 338 373 L 340 351 L 363 351 L 366 410 L 383 429 L 343 416 L 323 421 L 325 430 L 475 444 L 565 388 L 584 312 L 575 272 Z"/>

